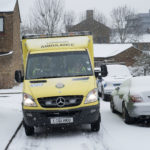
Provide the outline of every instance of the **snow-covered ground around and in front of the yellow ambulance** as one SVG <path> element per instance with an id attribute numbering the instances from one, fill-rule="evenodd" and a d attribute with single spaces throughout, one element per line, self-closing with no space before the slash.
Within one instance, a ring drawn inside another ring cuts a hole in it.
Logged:
<path id="1" fill-rule="evenodd" d="M 0 93 L 16 93 L 21 86 Z M 0 150 L 22 120 L 21 94 L 0 94 Z M 150 126 L 127 125 L 118 114 L 110 111 L 109 102 L 101 100 L 101 129 L 90 132 L 90 127 L 37 129 L 27 137 L 21 127 L 8 150 L 148 150 Z"/>

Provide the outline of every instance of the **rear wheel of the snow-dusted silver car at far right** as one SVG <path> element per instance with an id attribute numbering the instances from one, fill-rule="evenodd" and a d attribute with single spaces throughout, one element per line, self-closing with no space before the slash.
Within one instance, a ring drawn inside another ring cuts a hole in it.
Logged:
<path id="1" fill-rule="evenodd" d="M 126 124 L 133 123 L 133 118 L 129 116 L 129 113 L 125 107 L 125 104 L 123 104 L 123 106 L 122 106 L 122 116 L 123 116 L 123 120 Z"/>

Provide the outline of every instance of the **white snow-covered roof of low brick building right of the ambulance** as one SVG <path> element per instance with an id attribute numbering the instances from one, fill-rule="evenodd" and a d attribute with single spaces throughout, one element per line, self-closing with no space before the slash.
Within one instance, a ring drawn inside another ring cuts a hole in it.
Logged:
<path id="1" fill-rule="evenodd" d="M 130 47 L 132 47 L 132 44 L 94 44 L 94 57 L 112 57 Z"/>

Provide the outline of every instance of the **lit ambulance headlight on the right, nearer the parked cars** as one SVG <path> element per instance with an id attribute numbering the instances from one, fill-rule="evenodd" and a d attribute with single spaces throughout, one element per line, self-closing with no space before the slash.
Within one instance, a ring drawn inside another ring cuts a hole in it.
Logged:
<path id="1" fill-rule="evenodd" d="M 84 103 L 85 104 L 93 103 L 93 102 L 96 102 L 97 100 L 98 100 L 98 92 L 97 92 L 97 89 L 95 88 L 88 93 Z"/>

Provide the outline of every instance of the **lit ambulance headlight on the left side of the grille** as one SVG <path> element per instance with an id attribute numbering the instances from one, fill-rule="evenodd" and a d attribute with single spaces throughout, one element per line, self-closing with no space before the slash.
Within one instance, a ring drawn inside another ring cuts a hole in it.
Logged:
<path id="1" fill-rule="evenodd" d="M 28 107 L 37 107 L 32 96 L 26 93 L 23 94 L 23 105 Z"/>

